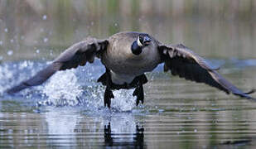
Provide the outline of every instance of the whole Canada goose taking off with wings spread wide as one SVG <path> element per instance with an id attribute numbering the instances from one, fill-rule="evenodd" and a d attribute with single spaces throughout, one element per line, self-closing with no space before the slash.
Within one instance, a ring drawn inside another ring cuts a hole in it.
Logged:
<path id="1" fill-rule="evenodd" d="M 154 70 L 161 63 L 164 63 L 164 71 L 171 70 L 173 75 L 209 84 L 227 94 L 254 99 L 248 95 L 254 93 L 254 90 L 249 93 L 242 92 L 218 74 L 218 68 L 210 66 L 186 46 L 164 45 L 147 33 L 140 32 L 120 32 L 104 40 L 87 38 L 80 41 L 60 54 L 44 70 L 8 89 L 7 93 L 16 93 L 42 84 L 58 70 L 76 68 L 78 65 L 85 65 L 87 61 L 92 63 L 95 56 L 101 59 L 106 69 L 98 82 L 106 86 L 104 106 L 109 108 L 111 99 L 114 99 L 113 89 L 135 88 L 133 96 L 137 96 L 137 105 L 139 102 L 143 103 L 143 84 L 147 83 L 144 73 Z"/>

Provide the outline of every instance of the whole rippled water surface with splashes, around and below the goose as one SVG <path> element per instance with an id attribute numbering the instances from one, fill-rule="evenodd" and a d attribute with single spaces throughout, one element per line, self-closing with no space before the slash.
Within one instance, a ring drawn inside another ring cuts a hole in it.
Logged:
<path id="1" fill-rule="evenodd" d="M 240 89 L 253 86 L 255 60 L 212 61 L 222 63 L 220 72 Z M 147 74 L 139 107 L 130 89 L 115 91 L 113 108 L 104 108 L 104 87 L 95 83 L 104 72 L 99 60 L 19 94 L 3 93 L 44 65 L 0 65 L 0 147 L 254 147 L 255 102 L 171 77 L 162 65 Z"/>

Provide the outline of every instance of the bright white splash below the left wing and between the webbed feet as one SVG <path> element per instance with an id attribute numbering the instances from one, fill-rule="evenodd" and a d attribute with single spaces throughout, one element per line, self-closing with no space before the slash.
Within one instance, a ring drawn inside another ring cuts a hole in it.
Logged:
<path id="1" fill-rule="evenodd" d="M 83 86 L 80 82 L 86 82 Z M 96 80 L 80 80 L 75 70 L 56 73 L 42 89 L 47 99 L 39 102 L 40 105 L 83 106 L 88 110 L 104 106 L 104 86 L 95 83 Z M 135 107 L 133 89 L 114 91 L 111 107 L 118 111 L 129 111 Z"/>

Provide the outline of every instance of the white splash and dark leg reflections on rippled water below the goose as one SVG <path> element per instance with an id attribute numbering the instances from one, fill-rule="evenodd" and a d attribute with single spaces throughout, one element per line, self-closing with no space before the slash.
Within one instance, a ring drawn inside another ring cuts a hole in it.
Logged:
<path id="1" fill-rule="evenodd" d="M 47 146 L 143 147 L 143 127 L 132 113 L 99 111 L 98 117 L 75 109 L 51 108 L 43 113 Z M 95 143 L 95 144 L 94 144 Z"/>

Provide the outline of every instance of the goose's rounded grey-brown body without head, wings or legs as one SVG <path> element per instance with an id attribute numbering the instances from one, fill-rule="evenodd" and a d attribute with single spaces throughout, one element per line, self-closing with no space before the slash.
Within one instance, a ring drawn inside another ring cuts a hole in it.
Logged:
<path id="1" fill-rule="evenodd" d="M 156 41 L 145 47 L 140 55 L 131 50 L 137 41 L 138 32 L 121 32 L 109 37 L 109 46 L 102 54 L 102 63 L 110 70 L 114 84 L 130 84 L 133 79 L 145 72 L 154 70 L 161 63 Z"/>

